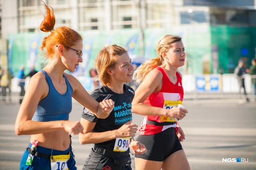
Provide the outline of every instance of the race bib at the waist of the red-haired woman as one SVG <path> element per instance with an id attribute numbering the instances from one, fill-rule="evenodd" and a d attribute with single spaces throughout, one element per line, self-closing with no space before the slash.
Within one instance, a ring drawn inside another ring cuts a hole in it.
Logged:
<path id="1" fill-rule="evenodd" d="M 67 161 L 70 158 L 70 152 L 68 155 L 54 155 L 51 156 L 51 168 L 52 170 L 69 170 Z"/>

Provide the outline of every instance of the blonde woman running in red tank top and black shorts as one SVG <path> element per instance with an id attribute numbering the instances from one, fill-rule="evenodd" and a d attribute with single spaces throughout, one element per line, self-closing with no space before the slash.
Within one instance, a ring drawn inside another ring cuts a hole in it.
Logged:
<path id="1" fill-rule="evenodd" d="M 147 153 L 135 155 L 136 170 L 190 170 L 180 144 L 184 132 L 176 120 L 186 116 L 182 104 L 182 75 L 177 71 L 185 63 L 182 38 L 165 35 L 156 47 L 158 57 L 146 60 L 135 76 L 140 84 L 135 91 L 132 112 L 144 115 L 137 141 L 145 144 Z"/>

